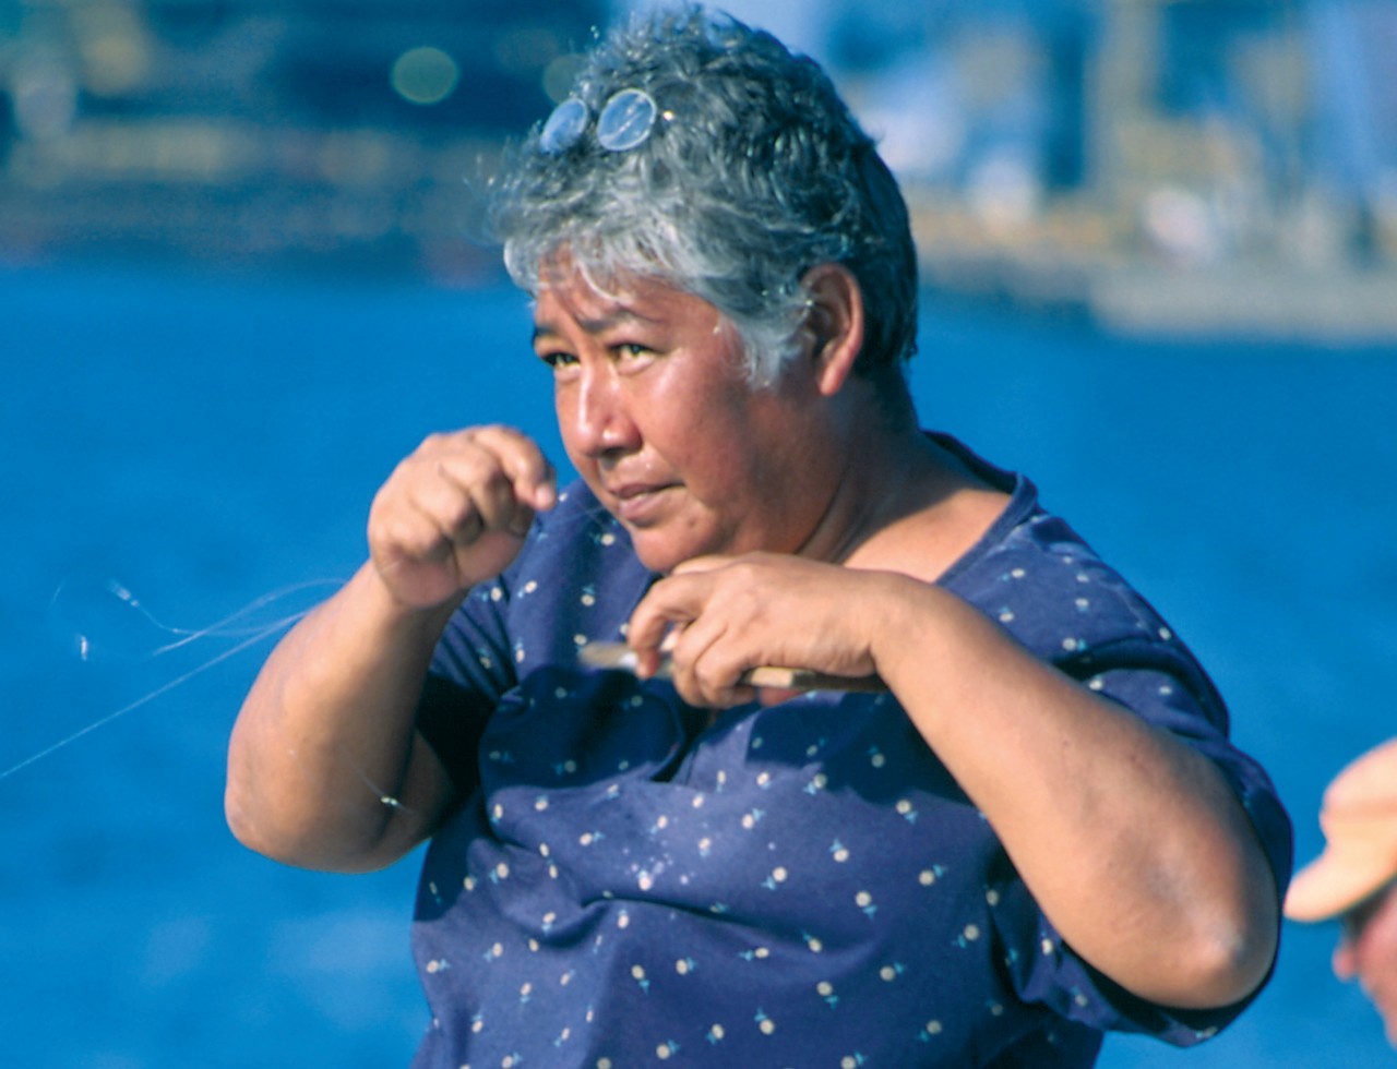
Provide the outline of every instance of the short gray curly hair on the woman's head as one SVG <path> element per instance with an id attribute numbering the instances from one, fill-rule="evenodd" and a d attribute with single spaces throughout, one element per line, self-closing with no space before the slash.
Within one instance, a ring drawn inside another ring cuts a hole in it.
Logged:
<path id="1" fill-rule="evenodd" d="M 515 147 L 490 214 L 514 282 L 536 296 L 564 248 L 590 279 L 662 279 L 726 315 L 770 384 L 796 352 L 802 276 L 837 262 L 863 294 L 855 371 L 901 370 L 916 338 L 907 205 L 820 66 L 686 4 L 601 40 L 573 96 L 595 117 L 627 88 L 661 112 L 637 148 L 599 147 L 594 119 L 562 149 L 543 151 L 541 127 Z"/>

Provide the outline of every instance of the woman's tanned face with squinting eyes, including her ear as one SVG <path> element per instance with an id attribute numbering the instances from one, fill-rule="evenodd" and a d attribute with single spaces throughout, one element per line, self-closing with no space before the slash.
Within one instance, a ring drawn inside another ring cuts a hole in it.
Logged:
<path id="1" fill-rule="evenodd" d="M 615 290 L 559 272 L 535 306 L 534 347 L 553 368 L 578 473 L 654 571 L 708 553 L 799 550 L 840 461 L 809 361 L 754 389 L 712 304 L 651 279 Z"/>

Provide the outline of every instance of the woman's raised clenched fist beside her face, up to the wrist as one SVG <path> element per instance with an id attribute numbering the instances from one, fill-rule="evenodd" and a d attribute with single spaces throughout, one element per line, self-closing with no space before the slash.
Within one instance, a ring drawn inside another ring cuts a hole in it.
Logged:
<path id="1" fill-rule="evenodd" d="M 557 501 L 553 466 L 511 427 L 433 434 L 379 490 L 369 554 L 393 599 L 436 608 L 504 571 L 536 511 Z"/>

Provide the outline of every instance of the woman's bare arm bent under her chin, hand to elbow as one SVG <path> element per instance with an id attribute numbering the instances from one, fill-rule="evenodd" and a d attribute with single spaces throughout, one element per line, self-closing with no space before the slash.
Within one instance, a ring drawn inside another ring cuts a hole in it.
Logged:
<path id="1" fill-rule="evenodd" d="M 1097 969 L 1178 1008 L 1224 1006 L 1261 982 L 1277 890 L 1210 761 L 943 589 L 795 558 L 700 568 L 652 588 L 630 628 L 650 667 L 665 628 L 678 627 L 686 701 L 750 701 L 735 681 L 763 663 L 877 673 Z"/>

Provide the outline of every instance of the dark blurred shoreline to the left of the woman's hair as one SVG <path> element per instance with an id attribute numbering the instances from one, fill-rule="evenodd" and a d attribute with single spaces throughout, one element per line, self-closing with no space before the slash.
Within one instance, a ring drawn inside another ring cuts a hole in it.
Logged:
<path id="1" fill-rule="evenodd" d="M 605 0 L 0 0 L 0 260 L 471 278 L 464 180 Z"/>

